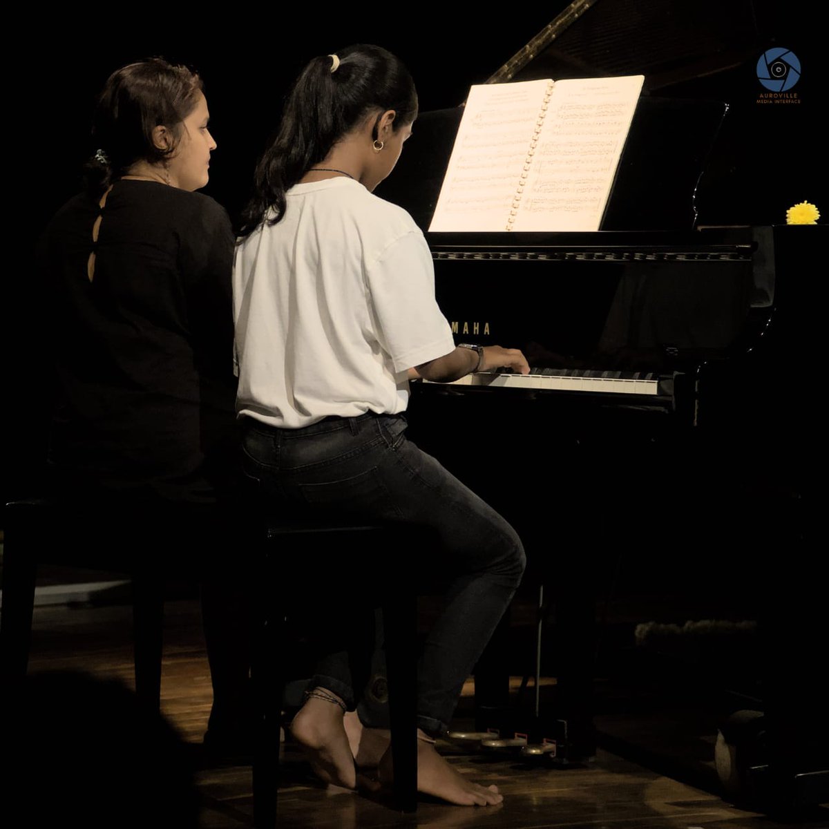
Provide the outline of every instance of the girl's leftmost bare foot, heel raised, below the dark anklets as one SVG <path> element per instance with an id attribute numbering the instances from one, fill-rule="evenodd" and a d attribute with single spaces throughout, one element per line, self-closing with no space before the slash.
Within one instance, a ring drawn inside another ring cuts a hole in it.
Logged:
<path id="1" fill-rule="evenodd" d="M 331 691 L 324 693 L 333 695 Z M 336 703 L 309 696 L 291 723 L 291 734 L 302 746 L 308 762 L 324 783 L 356 788 L 356 768 L 343 710 Z"/>

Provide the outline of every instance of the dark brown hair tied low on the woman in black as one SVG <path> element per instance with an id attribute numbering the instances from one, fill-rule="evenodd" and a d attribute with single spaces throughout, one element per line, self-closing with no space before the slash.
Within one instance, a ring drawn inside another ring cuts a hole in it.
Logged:
<path id="1" fill-rule="evenodd" d="M 202 89 L 196 72 L 161 57 L 131 63 L 109 75 L 93 119 L 95 151 L 84 171 L 90 193 L 100 195 L 135 162 L 155 164 L 175 153 L 182 121 L 196 108 Z M 172 146 L 156 146 L 153 129 L 159 125 L 172 133 Z"/>

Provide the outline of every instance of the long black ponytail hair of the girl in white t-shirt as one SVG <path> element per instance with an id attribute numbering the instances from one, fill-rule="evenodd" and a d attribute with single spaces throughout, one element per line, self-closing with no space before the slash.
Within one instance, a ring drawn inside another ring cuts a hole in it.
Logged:
<path id="1" fill-rule="evenodd" d="M 313 58 L 288 93 L 276 137 L 256 167 L 240 236 L 256 230 L 270 210 L 268 223 L 276 224 L 285 211 L 285 192 L 372 112 L 394 109 L 396 130 L 414 121 L 417 106 L 409 70 L 380 46 L 356 44 L 337 51 L 336 60 Z"/>

